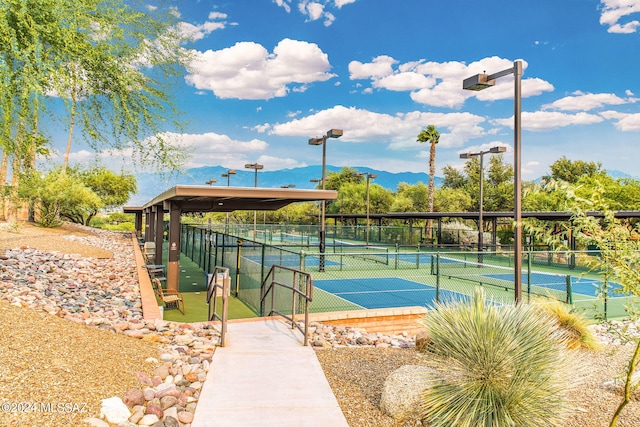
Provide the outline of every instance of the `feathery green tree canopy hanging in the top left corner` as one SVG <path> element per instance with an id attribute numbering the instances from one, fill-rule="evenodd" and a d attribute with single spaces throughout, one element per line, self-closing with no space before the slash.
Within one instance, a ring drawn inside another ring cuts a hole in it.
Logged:
<path id="1" fill-rule="evenodd" d="M 68 106 L 69 144 L 79 124 L 96 150 L 128 148 L 142 164 L 179 166 L 184 153 L 159 132 L 167 117 L 179 128 L 168 93 L 176 65 L 186 62 L 167 9 L 24 0 L 0 10 L 0 147 L 3 161 L 13 158 L 14 180 L 34 164 L 39 117 L 54 97 Z"/>

